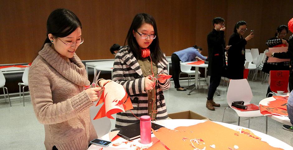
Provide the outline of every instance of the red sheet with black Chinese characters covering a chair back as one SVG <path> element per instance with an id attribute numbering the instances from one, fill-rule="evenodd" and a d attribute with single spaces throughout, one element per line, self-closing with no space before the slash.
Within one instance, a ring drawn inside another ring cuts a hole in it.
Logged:
<path id="1" fill-rule="evenodd" d="M 269 77 L 271 91 L 275 93 L 277 93 L 277 91 L 284 91 L 284 93 L 287 93 L 289 74 L 289 70 L 271 70 Z"/>

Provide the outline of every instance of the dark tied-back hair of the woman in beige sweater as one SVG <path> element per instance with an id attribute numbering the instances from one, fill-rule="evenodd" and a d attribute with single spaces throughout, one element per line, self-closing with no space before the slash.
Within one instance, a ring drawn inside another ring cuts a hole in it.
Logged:
<path id="1" fill-rule="evenodd" d="M 47 20 L 47 38 L 42 46 L 50 43 L 48 34 L 52 34 L 54 38 L 66 37 L 76 30 L 77 27 L 82 28 L 78 17 L 68 9 L 59 8 L 51 12 Z"/>

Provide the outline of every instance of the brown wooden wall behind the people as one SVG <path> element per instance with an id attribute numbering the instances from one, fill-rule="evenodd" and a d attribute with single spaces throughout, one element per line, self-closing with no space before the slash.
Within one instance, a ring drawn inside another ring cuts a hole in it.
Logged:
<path id="1" fill-rule="evenodd" d="M 282 2 L 282 3 L 281 3 Z M 68 8 L 81 20 L 84 43 L 77 54 L 82 60 L 114 58 L 109 48 L 124 44 L 135 14 L 146 12 L 157 22 L 160 47 L 167 56 L 194 44 L 207 55 L 206 36 L 213 29 L 211 20 L 226 20 L 225 39 L 235 23 L 245 20 L 255 38 L 247 48 L 266 49 L 265 42 L 273 37 L 276 27 L 293 17 L 290 0 L 89 0 L 89 1 L 1 1 L 0 64 L 29 63 L 46 38 L 46 20 L 56 8 Z M 248 31 L 248 32 L 249 32 Z M 247 34 L 248 34 L 247 32 Z M 247 35 L 246 34 L 246 35 Z M 287 38 L 291 32 L 287 35 Z"/>

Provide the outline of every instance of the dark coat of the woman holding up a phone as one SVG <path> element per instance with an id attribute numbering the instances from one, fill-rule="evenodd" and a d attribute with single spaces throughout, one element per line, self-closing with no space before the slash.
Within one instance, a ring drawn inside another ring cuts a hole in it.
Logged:
<path id="1" fill-rule="evenodd" d="M 247 41 L 238 33 L 233 33 L 229 39 L 232 45 L 228 50 L 228 78 L 243 79 L 243 66 L 245 63 L 245 45 Z M 244 52 L 244 53 L 243 53 Z"/>

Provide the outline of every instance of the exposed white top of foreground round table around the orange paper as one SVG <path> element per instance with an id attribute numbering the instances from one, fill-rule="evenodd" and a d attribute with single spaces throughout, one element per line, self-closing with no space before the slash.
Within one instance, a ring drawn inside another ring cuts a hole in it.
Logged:
<path id="1" fill-rule="evenodd" d="M 191 126 L 191 125 L 195 125 L 195 124 L 198 124 L 198 123 L 203 123 L 205 122 L 206 120 L 195 120 L 195 119 L 167 119 L 167 120 L 158 120 L 156 121 L 156 124 L 159 124 L 159 125 L 162 125 L 166 128 L 169 128 L 169 129 L 174 129 L 174 128 L 177 128 L 177 127 L 180 127 L 180 126 Z M 247 129 L 247 128 L 244 128 L 244 127 L 240 127 L 240 126 L 237 126 L 237 125 L 233 125 L 233 124 L 228 124 L 228 123 L 220 123 L 220 122 L 214 122 L 214 123 L 218 123 L 220 125 L 223 125 L 227 128 L 231 128 L 233 130 L 236 130 L 236 129 Z M 262 138 L 262 141 L 264 142 L 267 142 L 269 145 L 273 146 L 273 147 L 276 147 L 276 148 L 282 148 L 284 150 L 292 150 L 293 147 L 291 147 L 290 145 L 276 139 L 276 138 L 273 138 L 267 134 L 264 134 L 264 133 L 261 133 L 261 132 L 258 132 L 258 131 L 255 131 L 255 130 L 252 130 L 252 129 L 249 129 L 253 134 L 255 134 L 256 136 Z M 154 134 L 151 135 L 152 137 L 155 137 Z M 103 140 L 106 140 L 106 141 L 109 141 L 109 135 L 106 134 L 104 135 L 103 137 L 101 137 L 100 139 L 103 139 Z M 152 138 L 153 139 L 153 138 Z M 144 144 L 141 144 L 139 143 L 139 140 L 140 138 L 138 139 L 135 139 L 132 143 L 133 144 L 137 144 L 137 146 L 144 146 Z M 126 142 L 127 140 L 125 140 L 124 138 L 118 138 L 117 140 L 115 140 L 113 143 L 121 143 L 121 142 Z M 153 143 L 150 143 L 148 144 L 147 146 L 150 146 L 152 145 Z M 88 150 L 99 150 L 100 148 L 103 148 L 103 147 L 100 147 L 100 146 L 97 146 L 97 145 L 91 145 Z M 103 150 L 118 150 L 118 149 L 136 149 L 136 147 L 126 147 L 126 144 L 121 144 L 119 146 L 112 146 L 112 144 L 108 147 L 108 148 L 103 148 Z"/>

